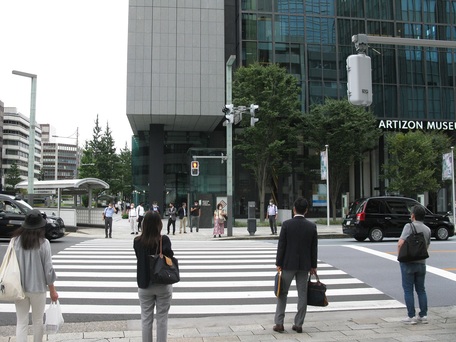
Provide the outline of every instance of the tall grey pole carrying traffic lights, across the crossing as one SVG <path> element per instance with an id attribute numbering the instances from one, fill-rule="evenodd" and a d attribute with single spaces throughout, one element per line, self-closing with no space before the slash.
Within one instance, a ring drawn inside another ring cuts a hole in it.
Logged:
<path id="1" fill-rule="evenodd" d="M 233 102 L 233 64 L 235 55 L 231 55 L 226 62 L 226 104 Z M 226 228 L 228 236 L 233 236 L 233 123 L 226 124 L 226 213 L 228 220 Z"/>

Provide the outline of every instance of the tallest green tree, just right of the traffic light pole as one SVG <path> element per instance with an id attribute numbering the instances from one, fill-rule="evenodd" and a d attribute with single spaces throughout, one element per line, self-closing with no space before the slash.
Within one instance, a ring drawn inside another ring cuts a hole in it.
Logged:
<path id="1" fill-rule="evenodd" d="M 243 167 L 255 177 L 261 220 L 265 217 L 266 186 L 271 185 L 273 195 L 276 193 L 278 175 L 290 172 L 290 156 L 296 153 L 302 118 L 299 91 L 297 79 L 275 64 L 251 64 L 234 74 L 233 103 L 259 105 L 259 122 L 254 127 L 250 127 L 250 115 L 244 114 L 235 148 L 244 158 Z"/>

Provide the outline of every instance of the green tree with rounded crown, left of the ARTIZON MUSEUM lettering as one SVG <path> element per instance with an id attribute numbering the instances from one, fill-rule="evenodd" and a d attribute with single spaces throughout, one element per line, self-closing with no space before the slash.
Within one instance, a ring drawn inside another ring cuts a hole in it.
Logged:
<path id="1" fill-rule="evenodd" d="M 335 220 L 336 201 L 350 166 L 378 143 L 381 132 L 376 128 L 376 118 L 347 100 L 326 99 L 324 104 L 311 107 L 303 133 L 303 142 L 309 148 L 322 151 L 329 146 L 329 199 Z"/>

